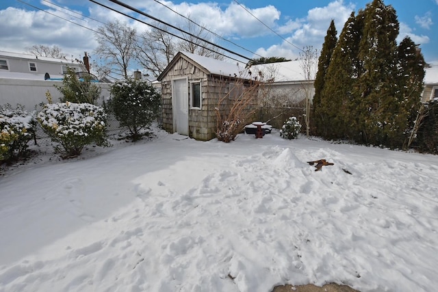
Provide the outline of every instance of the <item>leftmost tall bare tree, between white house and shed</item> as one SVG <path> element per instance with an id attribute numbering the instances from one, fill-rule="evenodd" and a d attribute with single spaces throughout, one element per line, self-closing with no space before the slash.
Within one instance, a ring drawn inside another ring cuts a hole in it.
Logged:
<path id="1" fill-rule="evenodd" d="M 136 29 L 114 21 L 98 27 L 95 36 L 99 44 L 96 55 L 103 60 L 101 70 L 110 69 L 110 72 L 128 79 L 128 68 L 135 57 Z"/>

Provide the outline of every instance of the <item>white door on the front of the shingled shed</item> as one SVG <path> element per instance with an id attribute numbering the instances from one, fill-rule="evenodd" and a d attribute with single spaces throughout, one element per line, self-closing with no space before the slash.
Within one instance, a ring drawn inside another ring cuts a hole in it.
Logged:
<path id="1" fill-rule="evenodd" d="M 189 96 L 187 79 L 173 80 L 173 129 L 181 135 L 189 135 Z"/>

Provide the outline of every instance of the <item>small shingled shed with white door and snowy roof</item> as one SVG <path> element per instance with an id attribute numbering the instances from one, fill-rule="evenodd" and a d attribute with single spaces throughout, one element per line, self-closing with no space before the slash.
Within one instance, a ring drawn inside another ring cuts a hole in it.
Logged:
<path id="1" fill-rule="evenodd" d="M 157 80 L 162 83 L 163 128 L 205 141 L 216 137 L 220 98 L 228 95 L 224 102 L 231 104 L 253 84 L 243 63 L 185 52 L 177 53 Z M 257 92 L 248 110 L 256 108 Z"/>

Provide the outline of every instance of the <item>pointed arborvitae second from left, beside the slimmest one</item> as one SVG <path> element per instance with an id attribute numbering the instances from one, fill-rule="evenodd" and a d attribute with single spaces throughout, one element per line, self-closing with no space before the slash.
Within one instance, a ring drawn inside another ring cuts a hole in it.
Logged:
<path id="1" fill-rule="evenodd" d="M 359 32 L 355 13 L 352 12 L 333 51 L 320 96 L 320 133 L 326 139 L 344 138 L 350 127 L 348 110 L 357 74 Z"/>

